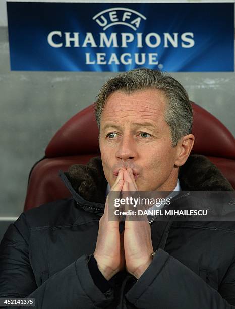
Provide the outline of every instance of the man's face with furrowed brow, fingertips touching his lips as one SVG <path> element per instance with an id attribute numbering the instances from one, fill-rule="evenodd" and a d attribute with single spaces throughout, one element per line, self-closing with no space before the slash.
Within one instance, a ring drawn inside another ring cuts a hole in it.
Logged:
<path id="1" fill-rule="evenodd" d="M 105 177 L 113 185 L 122 167 L 131 167 L 139 190 L 173 190 L 174 166 L 170 127 L 164 120 L 166 98 L 159 90 L 131 95 L 116 91 L 101 115 L 99 146 Z"/>

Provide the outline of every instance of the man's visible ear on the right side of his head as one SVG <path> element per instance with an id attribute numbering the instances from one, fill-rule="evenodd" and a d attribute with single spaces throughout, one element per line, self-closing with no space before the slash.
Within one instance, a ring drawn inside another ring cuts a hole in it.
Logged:
<path id="1" fill-rule="evenodd" d="M 183 164 L 185 164 L 193 148 L 194 140 L 195 138 L 193 134 L 185 135 L 179 140 L 176 146 L 177 151 L 174 161 L 174 164 L 176 166 L 182 166 Z"/>

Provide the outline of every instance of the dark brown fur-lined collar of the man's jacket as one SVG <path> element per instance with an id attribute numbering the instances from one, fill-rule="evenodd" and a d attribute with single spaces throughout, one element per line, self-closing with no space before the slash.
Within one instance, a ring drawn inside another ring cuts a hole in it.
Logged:
<path id="1" fill-rule="evenodd" d="M 65 175 L 86 201 L 105 203 L 107 180 L 100 157 L 90 159 L 87 165 L 72 165 Z M 183 191 L 233 191 L 218 168 L 202 155 L 189 156 L 180 169 L 179 179 Z"/>

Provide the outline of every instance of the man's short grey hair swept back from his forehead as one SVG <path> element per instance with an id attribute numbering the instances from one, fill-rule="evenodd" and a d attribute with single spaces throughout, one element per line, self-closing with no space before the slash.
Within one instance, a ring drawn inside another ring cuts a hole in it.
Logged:
<path id="1" fill-rule="evenodd" d="M 172 76 L 160 70 L 134 69 L 109 79 L 100 89 L 95 104 L 95 117 L 100 131 L 101 114 L 107 98 L 115 91 L 127 94 L 147 89 L 161 90 L 167 99 L 165 121 L 170 127 L 172 147 L 181 137 L 191 134 L 192 106 L 185 88 Z"/>

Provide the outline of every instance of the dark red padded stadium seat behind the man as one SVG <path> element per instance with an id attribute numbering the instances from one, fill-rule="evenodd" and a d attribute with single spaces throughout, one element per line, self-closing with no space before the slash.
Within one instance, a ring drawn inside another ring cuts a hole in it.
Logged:
<path id="1" fill-rule="evenodd" d="M 209 112 L 195 103 L 193 153 L 207 156 L 235 188 L 235 143 L 232 134 Z M 98 128 L 94 105 L 69 119 L 49 142 L 45 157 L 30 172 L 24 210 L 70 196 L 58 170 L 86 164 L 99 155 Z"/>

